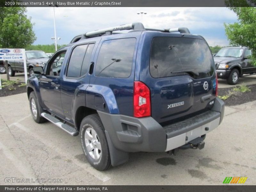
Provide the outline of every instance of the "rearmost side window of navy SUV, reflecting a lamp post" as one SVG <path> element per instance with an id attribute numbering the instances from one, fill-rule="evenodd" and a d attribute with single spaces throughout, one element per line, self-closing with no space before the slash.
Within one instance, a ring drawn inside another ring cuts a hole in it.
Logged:
<path id="1" fill-rule="evenodd" d="M 131 75 L 136 38 L 104 41 L 100 47 L 95 76 L 127 78 Z"/>

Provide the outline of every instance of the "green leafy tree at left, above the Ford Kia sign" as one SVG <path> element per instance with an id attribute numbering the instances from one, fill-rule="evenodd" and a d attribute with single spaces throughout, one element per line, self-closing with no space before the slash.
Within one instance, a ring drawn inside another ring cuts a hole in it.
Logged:
<path id="1" fill-rule="evenodd" d="M 25 7 L 0 7 L 0 47 L 25 48 L 36 40 Z"/>

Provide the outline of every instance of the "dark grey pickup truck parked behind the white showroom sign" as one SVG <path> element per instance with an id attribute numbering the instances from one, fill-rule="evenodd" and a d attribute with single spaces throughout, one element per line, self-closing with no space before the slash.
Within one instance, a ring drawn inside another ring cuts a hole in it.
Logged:
<path id="1" fill-rule="evenodd" d="M 48 55 L 43 51 L 26 51 L 27 71 L 29 76 L 34 74 L 33 68 L 36 66 L 44 67 L 45 63 L 49 60 Z M 15 76 L 15 72 L 24 72 L 23 60 L 9 60 L 8 72 L 10 76 Z M 1 68 L 0 68 L 1 69 Z"/>

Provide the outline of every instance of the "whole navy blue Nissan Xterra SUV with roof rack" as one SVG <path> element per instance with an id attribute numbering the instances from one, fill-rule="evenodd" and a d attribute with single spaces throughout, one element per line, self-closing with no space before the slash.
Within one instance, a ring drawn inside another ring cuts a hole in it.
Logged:
<path id="1" fill-rule="evenodd" d="M 209 46 L 187 28 L 133 23 L 87 32 L 34 73 L 27 84 L 34 120 L 80 135 L 101 171 L 129 152 L 202 149 L 224 115 Z"/>

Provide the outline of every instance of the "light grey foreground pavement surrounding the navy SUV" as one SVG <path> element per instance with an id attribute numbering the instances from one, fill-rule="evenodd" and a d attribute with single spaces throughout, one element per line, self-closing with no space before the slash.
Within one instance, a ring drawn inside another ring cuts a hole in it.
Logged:
<path id="1" fill-rule="evenodd" d="M 26 184 L 5 183 L 6 177 L 62 179 L 45 185 L 222 185 L 225 177 L 248 177 L 244 184 L 255 184 L 256 101 L 226 107 L 202 150 L 131 153 L 128 163 L 99 172 L 86 162 L 79 137 L 33 121 L 26 93 L 0 100 L 0 185 Z"/>

